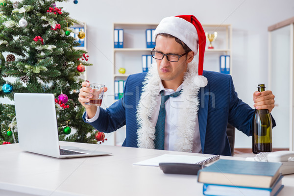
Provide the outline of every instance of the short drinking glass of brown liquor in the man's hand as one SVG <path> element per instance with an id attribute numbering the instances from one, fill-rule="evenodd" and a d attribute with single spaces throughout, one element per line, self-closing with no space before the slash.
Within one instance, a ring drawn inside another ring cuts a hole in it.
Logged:
<path id="1" fill-rule="evenodd" d="M 85 102 L 85 104 L 101 106 L 105 85 L 90 83 L 90 86 L 88 88 L 93 89 L 93 93 L 91 93 L 93 97 L 90 98 L 89 102 Z"/>

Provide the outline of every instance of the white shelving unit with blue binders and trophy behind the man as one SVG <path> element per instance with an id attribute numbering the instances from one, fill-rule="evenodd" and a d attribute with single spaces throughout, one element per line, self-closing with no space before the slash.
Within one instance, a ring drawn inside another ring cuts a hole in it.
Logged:
<path id="1" fill-rule="evenodd" d="M 114 48 L 113 44 L 113 87 L 115 80 L 126 80 L 128 75 L 142 72 L 142 55 L 150 54 L 151 50 L 146 46 L 146 29 L 155 29 L 157 25 L 158 24 L 113 24 L 113 32 L 115 28 L 123 29 L 123 48 Z M 209 41 L 207 39 L 204 56 L 204 70 L 219 72 L 220 55 L 230 55 L 231 74 L 232 26 L 223 24 L 202 26 L 205 32 L 218 32 L 218 37 L 212 43 L 214 49 L 207 49 L 209 45 Z M 198 59 L 198 56 L 195 58 Z M 120 68 L 124 68 L 126 72 L 124 74 L 119 73 Z M 114 135 L 114 144 L 118 146 L 122 145 L 124 138 L 125 126 L 116 131 Z"/>

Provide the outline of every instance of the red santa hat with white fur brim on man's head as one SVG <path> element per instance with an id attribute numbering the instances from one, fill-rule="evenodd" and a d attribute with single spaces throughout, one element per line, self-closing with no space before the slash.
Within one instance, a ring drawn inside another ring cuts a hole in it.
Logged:
<path id="1" fill-rule="evenodd" d="M 194 51 L 194 55 L 197 54 L 199 45 L 198 75 L 202 75 L 206 36 L 196 17 L 182 15 L 164 18 L 156 27 L 153 36 L 156 38 L 161 33 L 167 33 L 180 39 Z"/>

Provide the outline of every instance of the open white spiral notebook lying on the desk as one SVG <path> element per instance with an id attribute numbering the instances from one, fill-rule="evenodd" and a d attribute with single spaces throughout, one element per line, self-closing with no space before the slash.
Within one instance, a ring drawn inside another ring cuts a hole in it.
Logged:
<path id="1" fill-rule="evenodd" d="M 189 163 L 189 164 L 206 165 L 208 163 L 218 160 L 219 158 L 220 158 L 220 155 L 210 155 L 210 154 L 202 154 L 201 156 L 163 154 L 161 156 L 157 156 L 151 159 L 134 163 L 134 165 L 159 166 L 159 163 Z"/>

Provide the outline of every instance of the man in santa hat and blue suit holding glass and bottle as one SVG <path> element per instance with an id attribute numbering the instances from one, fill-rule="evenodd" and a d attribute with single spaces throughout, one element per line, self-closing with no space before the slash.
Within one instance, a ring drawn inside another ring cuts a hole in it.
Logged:
<path id="1" fill-rule="evenodd" d="M 148 73 L 130 75 L 123 98 L 106 110 L 85 104 L 92 89 L 82 83 L 84 121 L 107 133 L 126 125 L 125 147 L 231 155 L 227 123 L 250 136 L 254 110 L 237 97 L 230 75 L 203 71 L 201 24 L 192 15 L 167 17 L 154 36 L 156 63 Z M 274 107 L 271 91 L 254 92 L 253 99 L 257 109 Z"/>

